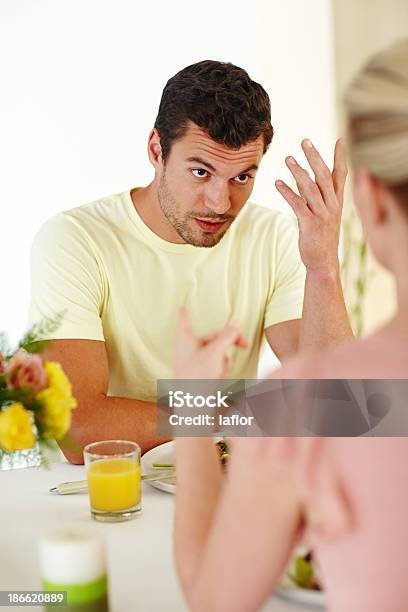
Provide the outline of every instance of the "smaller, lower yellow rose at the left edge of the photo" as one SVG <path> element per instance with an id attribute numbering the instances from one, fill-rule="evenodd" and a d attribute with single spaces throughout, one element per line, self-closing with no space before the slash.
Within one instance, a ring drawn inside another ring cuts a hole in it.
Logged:
<path id="1" fill-rule="evenodd" d="M 0 412 L 0 448 L 10 452 L 32 448 L 34 444 L 33 419 L 23 404 L 12 404 Z"/>

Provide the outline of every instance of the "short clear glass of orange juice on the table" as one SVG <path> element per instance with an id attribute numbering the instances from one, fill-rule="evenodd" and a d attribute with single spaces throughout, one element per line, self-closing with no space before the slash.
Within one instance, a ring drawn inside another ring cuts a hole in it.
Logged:
<path id="1" fill-rule="evenodd" d="M 140 446 L 127 440 L 93 442 L 84 448 L 91 514 L 97 521 L 127 521 L 140 512 Z"/>

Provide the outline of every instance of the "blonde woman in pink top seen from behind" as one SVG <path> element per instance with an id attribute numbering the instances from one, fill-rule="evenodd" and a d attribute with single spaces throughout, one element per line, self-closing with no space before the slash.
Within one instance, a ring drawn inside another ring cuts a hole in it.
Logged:
<path id="1" fill-rule="evenodd" d="M 297 359 L 277 378 L 408 378 L 408 40 L 365 66 L 346 105 L 355 201 L 373 253 L 395 276 L 398 310 L 375 335 Z M 225 376 L 227 351 L 244 344 L 236 324 L 201 342 L 183 312 L 177 377 Z M 406 612 L 408 439 L 232 444 L 222 487 L 210 439 L 176 443 L 176 559 L 191 610 L 259 610 L 306 533 L 331 612 Z"/>

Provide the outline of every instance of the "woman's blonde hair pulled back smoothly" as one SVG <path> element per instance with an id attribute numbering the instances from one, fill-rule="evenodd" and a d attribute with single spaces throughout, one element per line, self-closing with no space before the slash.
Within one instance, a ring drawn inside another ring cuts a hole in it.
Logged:
<path id="1" fill-rule="evenodd" d="M 406 193 L 408 38 L 378 53 L 363 67 L 349 86 L 345 104 L 353 165 L 367 168 L 398 192 L 403 187 Z"/>

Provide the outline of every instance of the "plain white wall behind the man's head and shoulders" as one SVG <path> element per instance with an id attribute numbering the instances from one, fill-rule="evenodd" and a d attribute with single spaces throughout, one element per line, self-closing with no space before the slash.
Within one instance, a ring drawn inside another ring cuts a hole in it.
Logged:
<path id="1" fill-rule="evenodd" d="M 276 137 L 253 200 L 308 136 L 335 138 L 329 0 L 0 0 L 0 330 L 25 329 L 29 252 L 60 210 L 146 184 L 162 88 L 201 59 L 231 61 L 271 96 Z M 300 157 L 299 157 L 300 158 Z"/>

